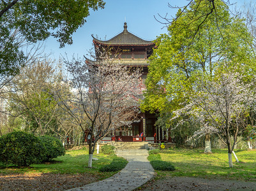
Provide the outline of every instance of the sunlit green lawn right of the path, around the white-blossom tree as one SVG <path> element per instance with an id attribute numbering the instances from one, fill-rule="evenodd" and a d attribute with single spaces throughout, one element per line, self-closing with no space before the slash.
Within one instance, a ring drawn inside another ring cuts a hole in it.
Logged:
<path id="1" fill-rule="evenodd" d="M 157 178 L 193 176 L 256 181 L 256 150 L 235 150 L 239 162 L 236 162 L 232 155 L 233 168 L 229 167 L 226 149 L 213 149 L 212 151 L 212 154 L 206 154 L 200 149 L 161 150 L 159 153 L 161 160 L 170 162 L 176 170 L 156 171 Z M 154 155 L 148 159 L 154 159 Z"/>

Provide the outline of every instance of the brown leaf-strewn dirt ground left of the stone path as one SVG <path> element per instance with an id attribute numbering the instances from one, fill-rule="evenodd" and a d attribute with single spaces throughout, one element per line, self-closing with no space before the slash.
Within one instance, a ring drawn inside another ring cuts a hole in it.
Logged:
<path id="1" fill-rule="evenodd" d="M 92 183 L 91 174 L 0 174 L 0 190 L 66 190 Z"/>

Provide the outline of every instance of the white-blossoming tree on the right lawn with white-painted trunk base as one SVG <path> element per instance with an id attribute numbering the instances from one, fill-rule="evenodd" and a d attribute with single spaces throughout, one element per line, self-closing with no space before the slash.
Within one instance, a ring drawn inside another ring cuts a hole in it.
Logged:
<path id="1" fill-rule="evenodd" d="M 194 93 L 190 92 L 190 103 L 174 112 L 174 118 L 189 115 L 200 122 L 200 130 L 195 132 L 194 138 L 207 133 L 218 134 L 222 142 L 227 145 L 229 167 L 233 166 L 232 153 L 237 143 L 237 135 L 245 129 L 246 118 L 250 115 L 250 111 L 254 110 L 253 80 L 253 77 L 249 78 L 245 73 L 220 69 L 216 71 L 214 78 L 204 76 L 197 81 L 194 84 Z"/>

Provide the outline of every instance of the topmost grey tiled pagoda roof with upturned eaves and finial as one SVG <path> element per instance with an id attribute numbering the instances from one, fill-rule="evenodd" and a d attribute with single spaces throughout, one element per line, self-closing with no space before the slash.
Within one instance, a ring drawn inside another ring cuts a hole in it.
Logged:
<path id="1" fill-rule="evenodd" d="M 153 41 L 146 41 L 144 39 L 141 39 L 131 32 L 127 31 L 127 25 L 126 22 L 124 22 L 124 31 L 117 34 L 117 36 L 114 36 L 113 38 L 107 40 L 107 41 L 102 41 L 100 39 L 96 39 L 93 36 L 93 42 L 102 44 L 102 45 L 118 45 L 118 46 L 149 46 L 149 45 L 154 45 L 155 43 Z"/>

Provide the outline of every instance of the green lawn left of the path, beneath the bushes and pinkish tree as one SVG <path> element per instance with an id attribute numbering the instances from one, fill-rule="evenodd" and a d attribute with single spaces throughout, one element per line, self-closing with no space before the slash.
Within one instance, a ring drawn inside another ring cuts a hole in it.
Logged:
<path id="1" fill-rule="evenodd" d="M 108 178 L 112 176 L 113 172 L 102 173 L 99 169 L 103 166 L 109 165 L 113 160 L 119 159 L 123 161 L 125 159 L 116 157 L 116 155 L 104 155 L 100 153 L 98 155 L 94 154 L 93 157 L 96 157 L 99 160 L 93 160 L 93 168 L 88 168 L 88 150 L 73 150 L 66 151 L 66 155 L 57 157 L 57 159 L 52 160 L 49 163 L 43 164 L 33 164 L 30 167 L 13 167 L 13 166 L 3 166 L 0 164 L 0 173 L 1 174 L 13 174 L 13 173 L 60 173 L 60 174 L 82 174 L 90 173 L 98 175 L 103 178 Z M 125 160 L 126 161 L 126 160 Z"/>

